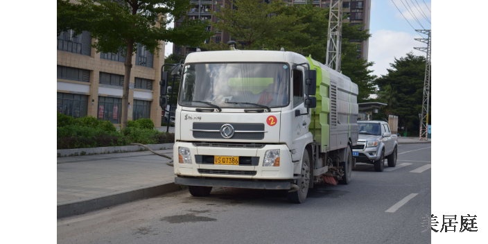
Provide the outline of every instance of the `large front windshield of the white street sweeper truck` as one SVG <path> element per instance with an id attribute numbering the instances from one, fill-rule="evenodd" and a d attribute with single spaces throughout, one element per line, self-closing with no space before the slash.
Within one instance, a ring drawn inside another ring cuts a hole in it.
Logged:
<path id="1" fill-rule="evenodd" d="M 289 71 L 285 63 L 185 64 L 178 100 L 186 107 L 210 107 L 196 101 L 227 108 L 284 107 Z"/>

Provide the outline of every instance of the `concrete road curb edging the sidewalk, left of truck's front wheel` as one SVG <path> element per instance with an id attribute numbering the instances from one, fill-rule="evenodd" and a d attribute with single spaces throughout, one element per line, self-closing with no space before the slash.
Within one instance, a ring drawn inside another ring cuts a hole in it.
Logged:
<path id="1" fill-rule="evenodd" d="M 117 204 L 132 202 L 143 198 L 153 198 L 157 195 L 177 191 L 178 189 L 180 189 L 180 186 L 175 185 L 174 182 L 165 184 L 159 183 L 125 191 L 116 191 L 115 193 L 98 195 L 95 198 L 62 202 L 57 204 L 56 218 L 85 214 L 88 211 L 112 207 Z"/>

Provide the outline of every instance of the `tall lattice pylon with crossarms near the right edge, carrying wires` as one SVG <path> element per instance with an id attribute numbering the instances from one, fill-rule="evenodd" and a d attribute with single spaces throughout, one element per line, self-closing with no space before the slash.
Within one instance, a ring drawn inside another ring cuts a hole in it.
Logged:
<path id="1" fill-rule="evenodd" d="M 415 38 L 419 42 L 427 44 L 427 47 L 414 47 L 426 54 L 426 76 L 424 78 L 424 96 L 422 96 L 422 111 L 420 116 L 420 136 L 419 140 L 427 141 L 428 136 L 428 102 L 430 98 L 430 58 L 432 56 L 432 36 L 431 30 L 417 30 L 418 33 L 427 35 L 427 38 Z"/>

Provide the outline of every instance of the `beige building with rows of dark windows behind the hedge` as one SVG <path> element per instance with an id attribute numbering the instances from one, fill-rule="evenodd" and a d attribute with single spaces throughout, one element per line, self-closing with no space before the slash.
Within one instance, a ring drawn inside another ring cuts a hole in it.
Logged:
<path id="1" fill-rule="evenodd" d="M 123 83 L 130 82 L 128 120 L 148 118 L 160 127 L 158 87 L 164 42 L 155 55 L 137 46 L 128 80 L 121 53 L 98 53 L 89 46 L 96 42 L 89 32 L 72 34 L 69 30 L 57 38 L 57 110 L 75 118 L 94 116 L 120 125 Z"/>

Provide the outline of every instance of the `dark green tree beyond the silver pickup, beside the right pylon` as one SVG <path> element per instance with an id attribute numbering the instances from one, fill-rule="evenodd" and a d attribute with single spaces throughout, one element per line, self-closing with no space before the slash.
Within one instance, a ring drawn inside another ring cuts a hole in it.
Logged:
<path id="1" fill-rule="evenodd" d="M 388 108 L 388 112 L 399 116 L 399 121 L 403 122 L 406 131 L 408 128 L 419 131 L 419 113 L 421 112 L 422 94 L 424 92 L 426 59 L 410 52 L 406 54 L 406 57 L 395 58 L 390 66 L 392 69 L 387 69 L 387 75 L 374 80 L 381 91 L 379 99 L 382 99 L 381 94 L 389 93 L 388 87 L 396 87 L 398 105 Z M 430 88 L 432 89 L 432 82 L 430 83 Z M 431 108 L 432 99 L 430 99 L 429 104 L 430 111 Z M 429 123 L 432 121 L 430 111 Z M 378 118 L 378 116 L 381 115 L 375 114 L 374 117 Z"/>

